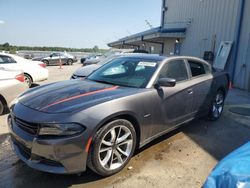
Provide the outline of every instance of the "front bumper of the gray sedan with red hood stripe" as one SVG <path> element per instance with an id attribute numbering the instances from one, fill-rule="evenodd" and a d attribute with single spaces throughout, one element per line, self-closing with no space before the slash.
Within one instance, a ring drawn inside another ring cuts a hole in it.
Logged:
<path id="1" fill-rule="evenodd" d="M 75 174 L 86 170 L 85 132 L 71 137 L 38 138 L 25 131 L 15 118 L 12 113 L 9 127 L 13 149 L 28 166 L 56 174 Z"/>

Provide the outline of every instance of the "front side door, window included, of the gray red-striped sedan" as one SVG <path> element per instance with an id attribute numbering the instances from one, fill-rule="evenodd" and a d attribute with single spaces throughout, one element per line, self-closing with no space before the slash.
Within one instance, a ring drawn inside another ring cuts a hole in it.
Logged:
<path id="1" fill-rule="evenodd" d="M 173 128 L 192 118 L 193 114 L 193 83 L 190 80 L 188 67 L 183 59 L 171 60 L 161 69 L 159 78 L 174 78 L 174 87 L 157 89 L 158 110 L 154 110 L 155 122 L 161 119 L 159 131 Z M 157 119 L 158 118 L 158 119 Z"/>

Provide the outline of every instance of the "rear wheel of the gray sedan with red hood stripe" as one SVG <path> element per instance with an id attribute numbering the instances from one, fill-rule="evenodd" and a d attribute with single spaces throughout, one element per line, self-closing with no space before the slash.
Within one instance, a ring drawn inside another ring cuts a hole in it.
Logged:
<path id="1" fill-rule="evenodd" d="M 208 120 L 216 121 L 221 117 L 224 109 L 224 101 L 224 92 L 222 90 L 218 90 L 212 100 L 212 104 L 208 113 Z"/>

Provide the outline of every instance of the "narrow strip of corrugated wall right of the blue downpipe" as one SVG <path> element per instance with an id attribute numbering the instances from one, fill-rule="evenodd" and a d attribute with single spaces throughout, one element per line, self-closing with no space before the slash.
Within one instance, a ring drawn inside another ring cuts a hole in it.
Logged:
<path id="1" fill-rule="evenodd" d="M 234 85 L 250 91 L 250 1 L 245 1 Z"/>

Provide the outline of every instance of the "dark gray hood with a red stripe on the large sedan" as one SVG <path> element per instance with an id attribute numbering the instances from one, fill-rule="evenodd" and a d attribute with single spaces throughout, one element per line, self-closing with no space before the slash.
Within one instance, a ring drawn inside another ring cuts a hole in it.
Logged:
<path id="1" fill-rule="evenodd" d="M 84 110 L 136 92 L 138 89 L 135 88 L 89 80 L 69 80 L 33 88 L 21 95 L 18 102 L 46 113 L 66 113 L 77 109 Z"/>

